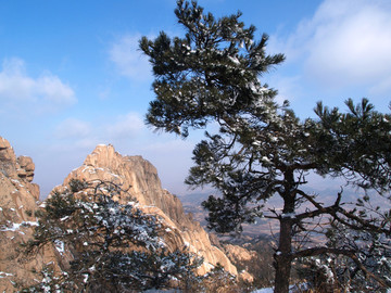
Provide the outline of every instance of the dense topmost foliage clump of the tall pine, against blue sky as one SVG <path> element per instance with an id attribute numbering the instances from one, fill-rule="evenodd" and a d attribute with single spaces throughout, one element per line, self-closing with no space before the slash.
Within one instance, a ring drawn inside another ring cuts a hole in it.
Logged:
<path id="1" fill-rule="evenodd" d="M 257 76 L 283 55 L 265 53 L 266 35 L 255 41 L 255 27 L 245 28 L 241 13 L 215 20 L 195 2 L 178 1 L 175 14 L 187 30 L 185 38 L 161 33 L 154 41 L 140 41 L 156 77 L 153 89 L 159 99 L 151 102 L 150 124 L 186 137 L 189 127 L 234 118 L 260 100 L 274 103 L 275 92 Z"/>

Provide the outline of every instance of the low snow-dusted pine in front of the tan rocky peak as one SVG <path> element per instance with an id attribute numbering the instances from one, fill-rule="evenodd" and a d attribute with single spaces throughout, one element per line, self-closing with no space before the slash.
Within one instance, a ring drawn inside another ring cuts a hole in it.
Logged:
<path id="1" fill-rule="evenodd" d="M 53 245 L 71 262 L 60 272 L 46 268 L 41 282 L 24 292 L 139 292 L 195 279 L 202 259 L 169 252 L 157 219 L 134 202 L 114 201 L 118 194 L 119 187 L 111 182 L 79 180 L 51 194 L 26 253 Z"/>

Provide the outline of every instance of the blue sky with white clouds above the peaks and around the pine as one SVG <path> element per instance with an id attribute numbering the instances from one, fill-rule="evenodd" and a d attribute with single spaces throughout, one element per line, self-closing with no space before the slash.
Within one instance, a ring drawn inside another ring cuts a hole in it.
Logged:
<path id="1" fill-rule="evenodd" d="M 382 112 L 391 101 L 389 0 L 203 0 L 216 16 L 269 35 L 268 52 L 287 61 L 262 77 L 302 118 L 317 101 L 344 109 L 363 97 Z M 141 36 L 182 35 L 175 0 L 0 2 L 0 136 L 36 163 L 42 194 L 62 183 L 99 143 L 142 155 L 163 187 L 182 181 L 200 133 L 154 133 L 143 116 L 153 99 Z"/>

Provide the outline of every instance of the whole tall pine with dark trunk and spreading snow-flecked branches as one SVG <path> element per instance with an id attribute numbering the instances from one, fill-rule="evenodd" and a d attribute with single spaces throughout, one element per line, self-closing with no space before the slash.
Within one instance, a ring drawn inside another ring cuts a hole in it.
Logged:
<path id="1" fill-rule="evenodd" d="M 155 76 L 156 99 L 147 120 L 184 138 L 189 129 L 219 126 L 217 133 L 205 132 L 197 144 L 195 165 L 186 179 L 192 187 L 218 191 L 202 204 L 210 212 L 209 228 L 240 232 L 243 222 L 256 217 L 278 220 L 275 292 L 288 292 L 297 258 L 333 254 L 360 262 L 357 251 L 317 245 L 311 237 L 325 234 L 325 225 L 335 221 L 389 237 L 389 218 L 381 214 L 384 221 L 374 222 L 376 215 L 361 217 L 357 206 L 342 202 L 342 191 L 333 204 L 323 204 L 304 188 L 306 175 L 341 177 L 377 195 L 388 192 L 390 115 L 374 111 L 364 99 L 357 106 L 349 100 L 346 114 L 319 103 L 317 119 L 300 120 L 288 102 L 277 104 L 276 91 L 260 81 L 285 59 L 266 54 L 267 35 L 256 40 L 255 27 L 245 27 L 241 13 L 216 20 L 195 1 L 179 0 L 175 14 L 185 37 L 161 33 L 154 40 L 140 40 Z M 281 211 L 265 209 L 272 196 L 282 199 Z M 381 276 L 377 281 L 389 285 Z"/>

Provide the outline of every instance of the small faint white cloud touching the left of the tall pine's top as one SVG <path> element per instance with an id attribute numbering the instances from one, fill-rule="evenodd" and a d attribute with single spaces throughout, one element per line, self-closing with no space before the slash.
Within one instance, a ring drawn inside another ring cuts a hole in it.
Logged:
<path id="1" fill-rule="evenodd" d="M 152 77 L 148 58 L 139 50 L 140 38 L 140 35 L 125 35 L 109 51 L 110 60 L 119 74 L 136 81 Z"/>

